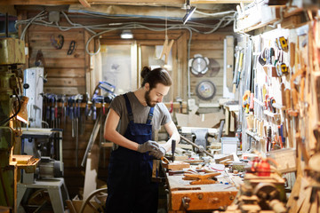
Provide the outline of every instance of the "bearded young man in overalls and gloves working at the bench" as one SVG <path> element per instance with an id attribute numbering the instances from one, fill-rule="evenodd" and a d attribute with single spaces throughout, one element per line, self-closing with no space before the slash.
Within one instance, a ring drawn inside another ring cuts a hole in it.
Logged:
<path id="1" fill-rule="evenodd" d="M 141 71 L 140 89 L 117 96 L 111 103 L 104 137 L 116 144 L 108 166 L 108 213 L 157 211 L 157 184 L 151 182 L 152 160 L 171 149 L 180 135 L 164 103 L 172 79 L 163 68 Z M 154 132 L 164 125 L 170 139 L 160 146 Z"/>

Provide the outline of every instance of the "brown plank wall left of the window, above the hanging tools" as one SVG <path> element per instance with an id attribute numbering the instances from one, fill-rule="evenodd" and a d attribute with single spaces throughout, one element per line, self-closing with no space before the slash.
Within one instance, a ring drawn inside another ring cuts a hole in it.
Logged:
<path id="1" fill-rule="evenodd" d="M 34 14 L 30 13 L 29 17 Z M 61 19 L 61 25 L 67 25 Z M 62 35 L 64 43 L 60 50 L 52 45 L 52 36 Z M 71 41 L 76 42 L 75 51 L 68 55 Z M 44 83 L 44 92 L 54 94 L 76 95 L 85 93 L 85 58 L 89 57 L 84 51 L 84 29 L 60 31 L 50 28 L 31 25 L 28 28 L 29 67 L 34 67 L 36 54 L 42 51 L 44 57 L 44 72 L 47 74 L 47 83 Z"/>

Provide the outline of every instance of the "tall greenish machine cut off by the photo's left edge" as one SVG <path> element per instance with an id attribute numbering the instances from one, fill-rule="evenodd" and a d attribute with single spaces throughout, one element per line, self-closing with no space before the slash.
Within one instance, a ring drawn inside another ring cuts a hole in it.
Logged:
<path id="1" fill-rule="evenodd" d="M 17 162 L 12 150 L 21 134 L 17 114 L 23 105 L 20 99 L 25 63 L 25 44 L 20 39 L 0 38 L 0 206 L 16 212 Z"/>

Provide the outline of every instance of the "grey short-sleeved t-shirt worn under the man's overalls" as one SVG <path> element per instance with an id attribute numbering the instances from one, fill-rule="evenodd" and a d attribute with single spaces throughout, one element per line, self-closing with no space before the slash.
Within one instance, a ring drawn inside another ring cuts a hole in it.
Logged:
<path id="1" fill-rule="evenodd" d="M 139 99 L 134 95 L 134 93 L 126 93 L 132 106 L 133 122 L 136 123 L 146 123 L 148 119 L 148 112 L 150 111 L 149 106 L 143 106 Z M 128 112 L 125 106 L 124 95 L 116 96 L 110 104 L 110 108 L 116 111 L 116 114 L 120 116 L 120 121 L 117 126 L 117 131 L 124 135 L 125 130 L 127 129 L 129 118 Z M 157 103 L 154 109 L 154 115 L 152 117 L 152 139 L 155 139 L 155 131 L 160 130 L 161 126 L 165 123 L 171 122 L 172 117 L 168 111 L 168 108 L 164 103 Z"/>

